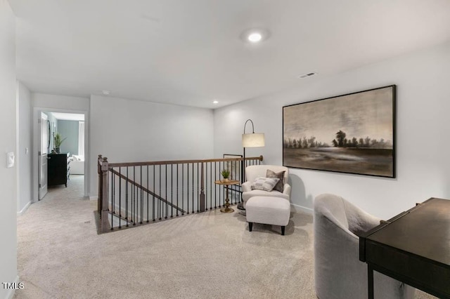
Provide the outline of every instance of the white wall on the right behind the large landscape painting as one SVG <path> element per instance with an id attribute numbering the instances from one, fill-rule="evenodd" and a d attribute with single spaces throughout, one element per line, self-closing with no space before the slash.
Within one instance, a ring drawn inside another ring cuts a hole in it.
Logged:
<path id="1" fill-rule="evenodd" d="M 263 154 L 264 164 L 281 165 L 283 105 L 397 84 L 397 178 L 290 168 L 293 204 L 311 209 L 314 197 L 330 192 L 387 219 L 430 197 L 450 198 L 449 82 L 450 44 L 299 80 L 288 91 L 214 110 L 215 155 L 242 152 L 243 125 L 252 119 L 266 147 L 248 149 L 247 156 Z"/>

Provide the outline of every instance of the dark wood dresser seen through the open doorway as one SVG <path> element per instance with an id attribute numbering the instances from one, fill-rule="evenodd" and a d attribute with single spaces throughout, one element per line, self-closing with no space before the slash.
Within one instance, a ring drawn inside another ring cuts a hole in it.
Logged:
<path id="1" fill-rule="evenodd" d="M 49 186 L 65 185 L 68 187 L 68 178 L 70 171 L 69 153 L 67 154 L 48 154 L 48 182 Z"/>

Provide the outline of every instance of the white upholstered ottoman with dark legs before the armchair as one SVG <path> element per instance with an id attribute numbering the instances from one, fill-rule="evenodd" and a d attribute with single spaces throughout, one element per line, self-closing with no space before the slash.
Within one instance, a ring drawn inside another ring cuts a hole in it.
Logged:
<path id="1" fill-rule="evenodd" d="M 245 204 L 248 230 L 251 232 L 253 223 L 280 225 L 284 236 L 285 226 L 290 218 L 290 202 L 281 197 L 250 197 Z"/>

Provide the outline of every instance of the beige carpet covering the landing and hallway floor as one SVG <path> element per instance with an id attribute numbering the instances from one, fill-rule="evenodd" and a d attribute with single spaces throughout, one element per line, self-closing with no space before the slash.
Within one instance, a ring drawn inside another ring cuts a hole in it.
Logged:
<path id="1" fill-rule="evenodd" d="M 285 236 L 218 210 L 98 235 L 82 180 L 18 218 L 15 298 L 316 298 L 311 215 Z"/>

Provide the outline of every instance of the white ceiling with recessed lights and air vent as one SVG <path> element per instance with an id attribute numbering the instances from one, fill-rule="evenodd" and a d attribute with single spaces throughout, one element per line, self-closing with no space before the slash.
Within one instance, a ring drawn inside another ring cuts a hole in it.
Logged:
<path id="1" fill-rule="evenodd" d="M 18 79 L 31 91 L 87 97 L 108 90 L 195 107 L 229 105 L 450 40 L 449 0 L 8 1 L 17 16 Z M 269 39 L 240 39 L 253 27 Z M 297 79 L 309 72 L 319 75 Z"/>

